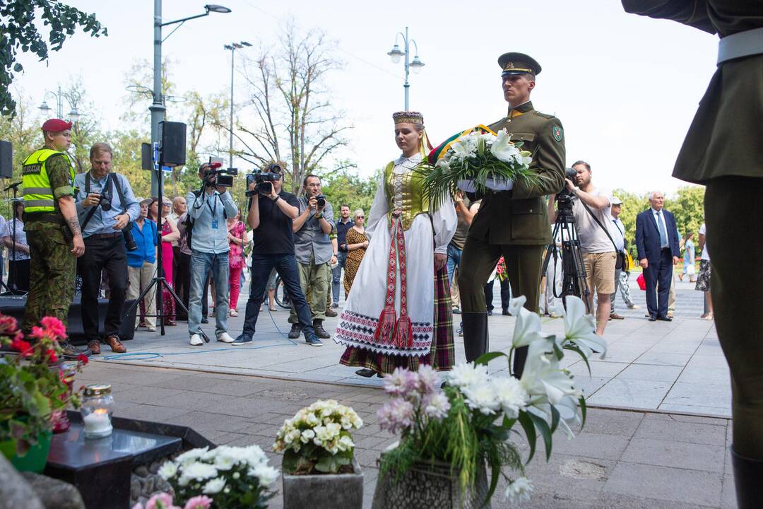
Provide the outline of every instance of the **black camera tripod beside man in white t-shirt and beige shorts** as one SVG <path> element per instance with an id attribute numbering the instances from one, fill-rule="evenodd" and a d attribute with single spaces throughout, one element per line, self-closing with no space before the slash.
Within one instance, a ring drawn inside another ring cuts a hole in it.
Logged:
<path id="1" fill-rule="evenodd" d="M 571 201 L 558 197 L 559 210 L 556 214 L 552 241 L 546 250 L 546 258 L 543 259 L 541 274 L 546 274 L 551 257 L 554 262 L 559 256 L 562 256 L 562 292 L 556 295 L 555 285 L 552 285 L 554 297 L 562 298 L 562 304 L 567 306 L 565 298 L 567 295 L 575 295 L 583 299 L 587 313 L 591 313 L 588 305 L 588 295 L 591 290 L 588 288 L 586 279 L 585 264 L 583 263 L 583 251 L 581 250 L 578 232 L 575 230 L 575 217 L 572 215 Z M 562 252 L 559 253 L 559 247 L 556 246 L 556 239 L 559 238 L 562 243 Z M 555 265 L 555 263 L 554 263 Z"/>

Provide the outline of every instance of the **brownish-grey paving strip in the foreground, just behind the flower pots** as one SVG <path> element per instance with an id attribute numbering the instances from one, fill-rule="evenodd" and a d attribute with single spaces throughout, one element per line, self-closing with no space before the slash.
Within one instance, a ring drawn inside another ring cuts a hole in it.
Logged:
<path id="1" fill-rule="evenodd" d="M 376 424 L 375 411 L 387 396 L 375 387 L 91 362 L 76 384 L 96 382 L 112 384 L 114 413 L 120 417 L 187 425 L 221 445 L 256 443 L 277 468 L 281 459 L 270 446 L 283 420 L 319 398 L 335 398 L 364 420 L 354 434 L 364 469 L 364 507 L 371 507 L 376 460 L 397 440 Z M 736 507 L 727 418 L 591 408 L 586 427 L 576 435 L 569 441 L 556 436 L 549 462 L 539 446 L 526 469 L 535 494 L 523 507 Z M 517 441 L 526 454 L 523 439 Z M 507 507 L 503 491 L 502 483 L 493 507 Z M 282 507 L 281 496 L 269 507 Z"/>

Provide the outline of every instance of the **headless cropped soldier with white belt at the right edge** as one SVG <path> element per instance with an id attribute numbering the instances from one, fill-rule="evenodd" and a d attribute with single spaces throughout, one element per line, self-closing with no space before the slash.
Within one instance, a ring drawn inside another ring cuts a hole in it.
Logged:
<path id="1" fill-rule="evenodd" d="M 763 507 L 763 2 L 623 0 L 626 11 L 720 36 L 717 69 L 673 176 L 706 185 L 718 339 L 732 388 L 732 465 L 739 509 Z M 657 142 L 658 143 L 658 142 Z M 755 232 L 758 233 L 755 233 Z M 750 274 L 758 274 L 750 277 Z"/>

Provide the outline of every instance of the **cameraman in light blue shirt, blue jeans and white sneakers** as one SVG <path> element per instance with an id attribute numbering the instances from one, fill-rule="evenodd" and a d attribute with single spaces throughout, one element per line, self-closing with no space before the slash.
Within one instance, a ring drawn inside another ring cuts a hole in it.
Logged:
<path id="1" fill-rule="evenodd" d="M 203 182 L 200 191 L 189 192 L 188 221 L 191 221 L 188 246 L 191 248 L 191 295 L 188 298 L 188 333 L 193 346 L 204 344 L 201 333 L 201 292 L 204 281 L 212 272 L 214 291 L 214 335 L 217 341 L 233 343 L 228 334 L 228 227 L 227 218 L 236 217 L 238 208 L 227 188 L 217 184 L 217 175 L 208 163 L 198 169 Z"/>

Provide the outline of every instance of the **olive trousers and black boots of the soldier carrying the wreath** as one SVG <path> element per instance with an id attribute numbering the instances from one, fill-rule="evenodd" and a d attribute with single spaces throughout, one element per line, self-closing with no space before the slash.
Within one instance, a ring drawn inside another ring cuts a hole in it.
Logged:
<path id="1" fill-rule="evenodd" d="M 504 256 L 509 285 L 513 295 L 524 295 L 524 307 L 538 312 L 540 292 L 540 266 L 544 246 L 514 246 L 489 244 L 467 237 L 459 265 L 459 291 L 461 292 L 461 319 L 464 331 L 464 350 L 467 362 L 472 362 L 488 351 L 488 310 L 485 303 L 485 283 Z M 527 347 L 514 351 L 512 374 L 519 378 L 527 358 Z"/>

